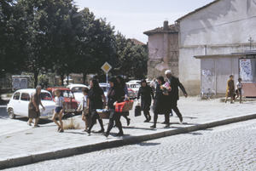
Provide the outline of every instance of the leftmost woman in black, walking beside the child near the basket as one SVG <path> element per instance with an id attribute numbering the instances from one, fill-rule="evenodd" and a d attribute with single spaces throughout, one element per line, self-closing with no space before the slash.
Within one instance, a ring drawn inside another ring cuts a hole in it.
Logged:
<path id="1" fill-rule="evenodd" d="M 103 102 L 102 102 L 103 99 Z M 90 90 L 88 94 L 88 100 L 89 100 L 89 110 L 90 110 L 90 127 L 86 131 L 88 134 L 90 134 L 91 128 L 96 123 L 96 119 L 101 125 L 101 130 L 98 131 L 98 133 L 104 132 L 103 122 L 102 119 L 99 117 L 99 114 L 96 112 L 96 109 L 104 109 L 106 105 L 106 97 L 104 95 L 104 92 L 102 88 L 100 88 L 99 83 L 96 81 L 96 79 L 92 79 L 90 81 Z"/>

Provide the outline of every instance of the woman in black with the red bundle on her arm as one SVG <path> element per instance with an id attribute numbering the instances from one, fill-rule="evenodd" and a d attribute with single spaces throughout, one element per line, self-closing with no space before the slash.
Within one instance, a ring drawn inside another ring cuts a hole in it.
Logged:
<path id="1" fill-rule="evenodd" d="M 108 110 L 110 112 L 110 115 L 108 130 L 104 134 L 104 136 L 108 137 L 111 129 L 113 128 L 113 121 L 115 121 L 117 128 L 119 128 L 119 133 L 117 134 L 117 136 L 123 136 L 124 132 L 122 128 L 122 123 L 120 122 L 121 115 L 119 114 L 119 112 L 115 111 L 115 104 L 124 101 L 124 91 L 122 90 L 122 88 L 120 88 L 116 78 L 110 77 L 108 79 L 108 82 L 110 84 L 110 88 L 108 90 Z"/>

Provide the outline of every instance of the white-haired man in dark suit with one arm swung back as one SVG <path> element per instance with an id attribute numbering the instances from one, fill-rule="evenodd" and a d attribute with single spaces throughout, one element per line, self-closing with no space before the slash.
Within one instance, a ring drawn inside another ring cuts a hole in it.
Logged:
<path id="1" fill-rule="evenodd" d="M 172 88 L 172 90 L 169 92 L 170 103 L 171 103 L 170 106 L 171 106 L 172 110 L 175 111 L 175 113 L 177 114 L 177 117 L 179 118 L 180 122 L 183 123 L 183 116 L 177 108 L 177 100 L 179 99 L 177 87 L 179 87 L 183 91 L 183 94 L 186 98 L 187 98 L 188 94 L 187 94 L 185 88 L 183 87 L 183 84 L 179 82 L 178 78 L 172 76 L 171 70 L 166 70 L 165 74 L 167 77 L 167 81 Z M 166 117 L 169 117 L 169 116 L 166 116 Z"/>

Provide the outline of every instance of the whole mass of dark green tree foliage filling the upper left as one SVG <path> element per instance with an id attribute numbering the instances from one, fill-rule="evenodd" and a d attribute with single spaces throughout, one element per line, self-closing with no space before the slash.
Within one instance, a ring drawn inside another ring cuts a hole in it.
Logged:
<path id="1" fill-rule="evenodd" d="M 106 19 L 90 9 L 78 11 L 73 0 L 0 0 L 0 77 L 6 72 L 102 73 L 108 61 L 112 75 L 145 77 L 147 52 L 129 42 Z"/>

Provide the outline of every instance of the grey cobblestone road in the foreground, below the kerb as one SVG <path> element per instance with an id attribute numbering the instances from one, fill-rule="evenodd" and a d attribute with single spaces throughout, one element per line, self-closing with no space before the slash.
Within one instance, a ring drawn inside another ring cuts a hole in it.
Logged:
<path id="1" fill-rule="evenodd" d="M 7 170 L 256 170 L 256 120 Z"/>

